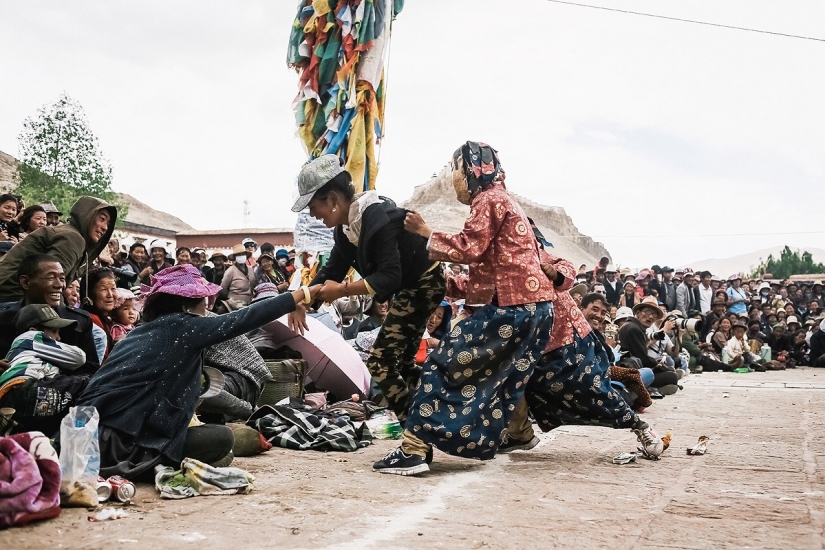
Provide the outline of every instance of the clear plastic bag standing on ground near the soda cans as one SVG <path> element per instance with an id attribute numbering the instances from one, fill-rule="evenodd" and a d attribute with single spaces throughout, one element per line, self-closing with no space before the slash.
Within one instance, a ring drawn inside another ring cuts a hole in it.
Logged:
<path id="1" fill-rule="evenodd" d="M 72 407 L 60 422 L 60 496 L 64 506 L 97 506 L 99 423 L 94 407 Z"/>

